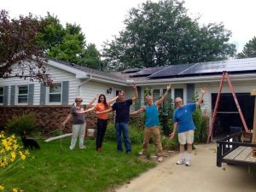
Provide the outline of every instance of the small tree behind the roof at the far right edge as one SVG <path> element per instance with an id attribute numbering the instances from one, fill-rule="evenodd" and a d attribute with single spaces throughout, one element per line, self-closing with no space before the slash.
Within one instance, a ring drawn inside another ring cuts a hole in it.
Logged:
<path id="1" fill-rule="evenodd" d="M 256 37 L 253 37 L 237 55 L 239 59 L 256 57 Z"/>

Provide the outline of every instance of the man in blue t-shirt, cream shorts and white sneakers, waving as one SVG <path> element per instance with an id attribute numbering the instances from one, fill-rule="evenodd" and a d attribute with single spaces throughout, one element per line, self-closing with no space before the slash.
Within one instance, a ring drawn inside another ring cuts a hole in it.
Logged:
<path id="1" fill-rule="evenodd" d="M 201 96 L 199 100 L 195 103 L 189 103 L 187 105 L 183 105 L 183 100 L 180 97 L 175 99 L 175 103 L 177 105 L 177 109 L 174 111 L 173 115 L 173 131 L 170 133 L 169 137 L 172 139 L 177 131 L 179 150 L 181 153 L 181 160 L 177 161 L 177 165 L 186 164 L 186 166 L 190 166 L 191 161 L 191 151 L 192 151 L 192 143 L 194 142 L 194 130 L 195 125 L 192 118 L 192 113 L 195 111 L 195 108 L 198 108 L 201 105 L 203 100 L 203 96 L 206 93 L 206 88 L 201 89 Z M 184 155 L 184 145 L 188 144 L 188 158 L 185 161 Z"/>

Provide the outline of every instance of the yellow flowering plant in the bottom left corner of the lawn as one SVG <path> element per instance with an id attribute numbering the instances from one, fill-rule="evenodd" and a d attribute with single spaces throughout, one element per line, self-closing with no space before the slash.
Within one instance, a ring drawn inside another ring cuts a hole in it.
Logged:
<path id="1" fill-rule="evenodd" d="M 7 178 L 6 175 L 15 169 L 15 166 L 19 166 L 19 161 L 26 160 L 28 151 L 21 151 L 20 146 L 17 143 L 15 135 L 6 137 L 3 132 L 0 132 L 0 180 Z M 20 164 L 21 165 L 21 164 Z M 0 190 L 8 189 L 4 183 L 0 183 Z M 15 187 L 13 191 L 17 191 Z"/>

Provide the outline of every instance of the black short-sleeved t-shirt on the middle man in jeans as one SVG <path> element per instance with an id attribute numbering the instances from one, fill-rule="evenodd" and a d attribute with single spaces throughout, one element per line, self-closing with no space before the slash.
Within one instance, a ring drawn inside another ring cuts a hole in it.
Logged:
<path id="1" fill-rule="evenodd" d="M 131 99 L 125 100 L 125 102 L 113 103 L 112 109 L 116 111 L 115 122 L 128 123 L 130 117 L 130 106 L 132 104 Z"/>

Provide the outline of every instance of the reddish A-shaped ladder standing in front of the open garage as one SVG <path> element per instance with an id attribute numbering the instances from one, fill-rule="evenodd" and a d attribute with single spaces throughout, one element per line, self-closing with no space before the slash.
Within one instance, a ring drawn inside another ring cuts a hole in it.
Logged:
<path id="1" fill-rule="evenodd" d="M 240 114 L 240 117 L 241 117 L 242 125 L 244 126 L 245 131 L 248 132 L 247 123 L 246 123 L 246 121 L 245 121 L 245 119 L 243 117 L 243 114 L 241 113 L 241 108 L 240 108 L 239 102 L 238 102 L 238 100 L 236 98 L 235 90 L 233 89 L 233 86 L 232 86 L 231 81 L 230 81 L 230 75 L 229 75 L 228 72 L 223 72 L 221 80 L 220 80 L 220 84 L 219 84 L 219 87 L 218 87 L 218 96 L 217 96 L 217 100 L 215 102 L 214 111 L 213 111 L 213 114 L 212 114 L 212 124 L 211 124 L 211 126 L 209 128 L 207 143 L 210 142 L 210 139 L 212 137 L 212 131 L 213 131 L 213 128 L 214 128 L 214 123 L 215 123 L 215 119 L 216 119 L 216 115 L 217 115 L 218 102 L 219 102 L 219 99 L 220 99 L 220 94 L 221 94 L 221 90 L 222 90 L 222 87 L 223 87 L 224 78 L 226 78 L 227 81 L 228 81 L 228 84 L 229 84 L 229 87 L 230 87 L 230 91 L 231 91 L 231 93 L 232 93 L 232 95 L 234 97 L 234 100 L 236 102 L 236 108 L 237 108 L 238 113 Z"/>

